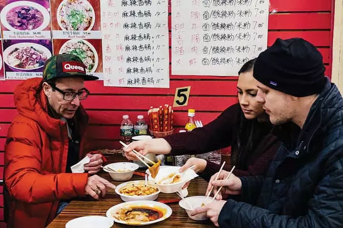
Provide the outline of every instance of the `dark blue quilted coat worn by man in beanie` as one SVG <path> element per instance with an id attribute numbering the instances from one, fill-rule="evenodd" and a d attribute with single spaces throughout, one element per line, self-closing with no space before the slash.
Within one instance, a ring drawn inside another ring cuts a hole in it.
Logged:
<path id="1" fill-rule="evenodd" d="M 281 127 L 266 175 L 241 177 L 220 227 L 343 227 L 343 99 L 327 80 L 303 128 Z"/>

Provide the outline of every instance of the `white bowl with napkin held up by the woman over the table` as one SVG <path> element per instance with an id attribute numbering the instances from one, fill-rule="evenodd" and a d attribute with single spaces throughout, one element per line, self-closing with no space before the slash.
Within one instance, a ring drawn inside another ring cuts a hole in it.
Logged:
<path id="1" fill-rule="evenodd" d="M 188 169 L 184 173 L 181 174 L 180 181 L 178 181 L 177 183 L 168 184 L 168 185 L 158 184 L 158 181 L 162 180 L 164 177 L 168 176 L 171 173 L 178 172 L 179 169 L 180 169 L 180 167 L 178 167 L 178 166 L 169 166 L 169 167 L 161 166 L 158 173 L 157 173 L 157 176 L 155 177 L 155 179 L 153 179 L 151 177 L 150 172 L 147 172 L 147 173 L 149 173 L 148 179 L 151 181 L 154 181 L 156 186 L 158 187 L 158 189 L 161 192 L 163 192 L 163 193 L 175 193 L 175 192 L 181 190 L 181 188 L 186 184 L 187 181 L 198 176 L 194 172 L 194 170 Z"/>

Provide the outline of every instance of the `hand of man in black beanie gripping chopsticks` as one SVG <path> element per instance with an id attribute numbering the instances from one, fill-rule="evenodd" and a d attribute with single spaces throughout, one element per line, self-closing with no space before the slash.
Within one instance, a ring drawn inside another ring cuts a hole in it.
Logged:
<path id="1" fill-rule="evenodd" d="M 217 200 L 226 198 L 229 195 L 239 195 L 242 188 L 242 182 L 233 173 L 231 174 L 229 179 L 225 180 L 225 178 L 229 175 L 229 173 L 230 172 L 228 171 L 221 170 L 217 180 L 215 180 L 215 178 L 218 173 L 215 173 L 209 181 L 209 185 L 207 186 L 207 190 L 206 190 L 206 195 L 209 193 L 212 186 L 213 186 L 213 192 L 212 192 L 213 195 L 215 195 L 218 189 L 221 186 L 223 186 L 223 188 L 221 188 L 220 192 L 218 193 L 216 197 Z"/>

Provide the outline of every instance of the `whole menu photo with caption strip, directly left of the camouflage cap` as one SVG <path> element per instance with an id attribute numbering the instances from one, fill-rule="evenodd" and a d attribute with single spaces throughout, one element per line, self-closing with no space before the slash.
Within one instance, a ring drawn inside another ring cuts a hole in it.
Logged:
<path id="1" fill-rule="evenodd" d="M 3 40 L 6 79 L 43 77 L 45 61 L 52 56 L 52 42 L 42 40 Z"/>

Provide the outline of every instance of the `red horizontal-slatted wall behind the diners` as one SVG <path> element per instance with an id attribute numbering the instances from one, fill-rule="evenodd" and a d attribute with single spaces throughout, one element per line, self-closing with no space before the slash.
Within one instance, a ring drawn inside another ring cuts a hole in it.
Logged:
<path id="1" fill-rule="evenodd" d="M 302 37 L 318 47 L 331 76 L 331 45 L 333 18 L 331 0 L 270 0 L 268 46 L 276 38 Z M 171 16 L 169 15 L 169 21 Z M 171 25 L 169 25 L 171 28 Z M 170 49 L 171 50 L 171 49 Z M 171 55 L 171 53 L 170 53 Z M 119 148 L 119 125 L 122 116 L 135 120 L 153 106 L 172 104 L 175 88 L 191 86 L 187 107 L 174 108 L 175 131 L 187 121 L 187 109 L 196 109 L 196 119 L 208 123 L 221 111 L 237 102 L 237 77 L 170 76 L 170 88 L 104 87 L 102 81 L 87 82 L 91 96 L 83 102 L 90 116 L 89 130 L 94 149 Z M 0 81 L 0 179 L 4 169 L 4 146 L 7 130 L 17 114 L 13 90 L 20 81 Z M 3 187 L 0 186 L 2 194 Z M 0 195 L 0 220 L 3 220 L 3 200 Z M 0 222 L 0 228 L 3 223 Z"/>

